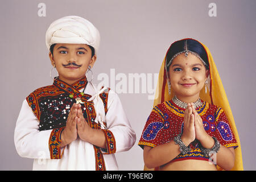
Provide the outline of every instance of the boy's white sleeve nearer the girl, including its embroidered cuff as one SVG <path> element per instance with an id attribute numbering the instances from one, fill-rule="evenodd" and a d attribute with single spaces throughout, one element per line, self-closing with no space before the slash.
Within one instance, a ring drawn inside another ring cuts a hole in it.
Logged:
<path id="1" fill-rule="evenodd" d="M 113 90 L 109 90 L 108 112 L 105 119 L 107 129 L 103 131 L 107 148 L 103 154 L 130 150 L 135 143 L 136 134 L 131 128 L 118 95 Z"/>

